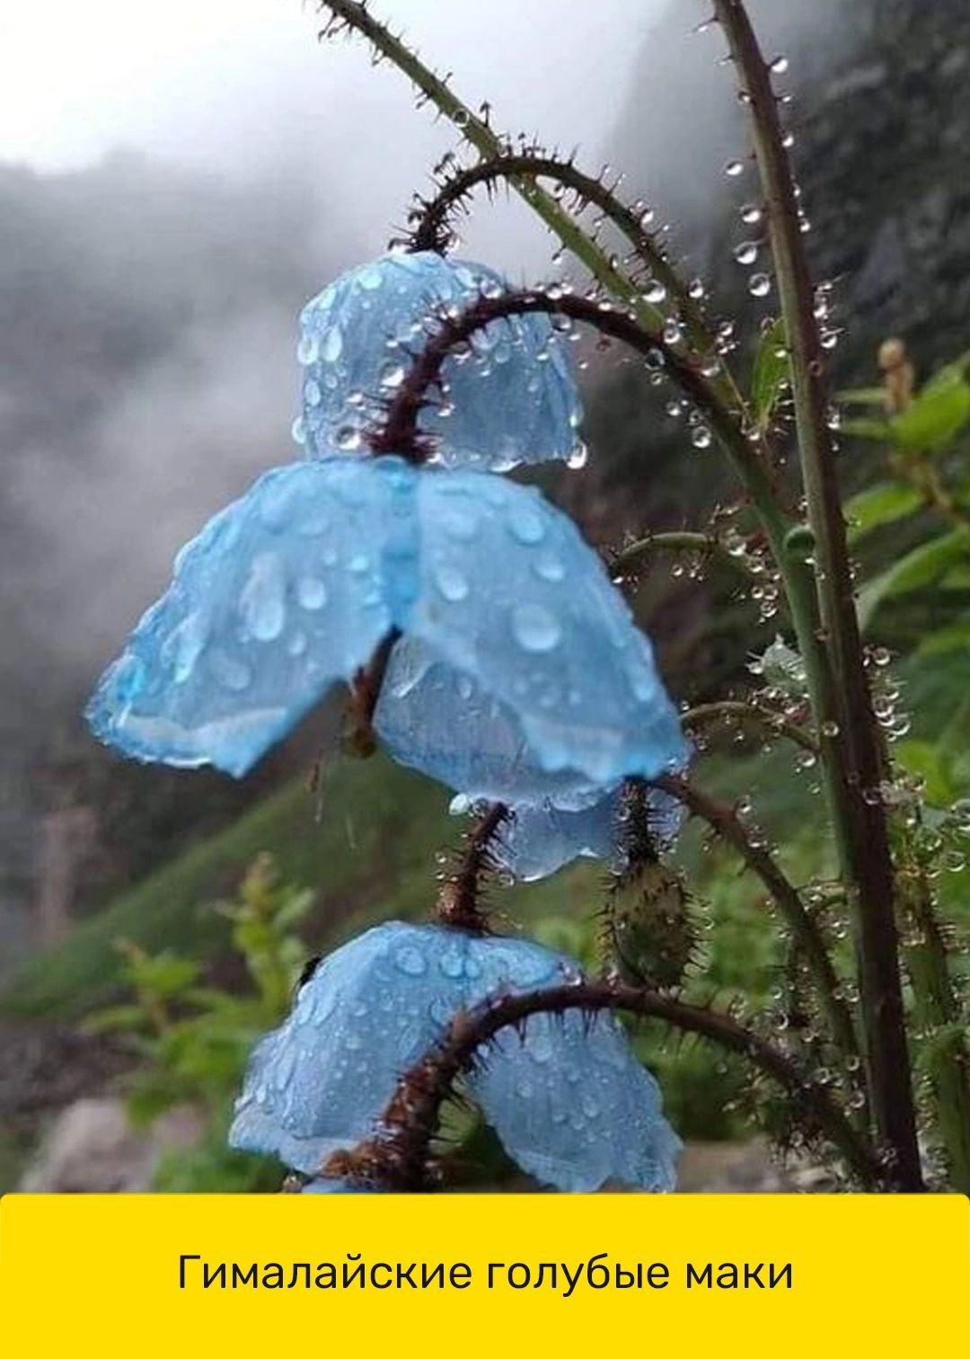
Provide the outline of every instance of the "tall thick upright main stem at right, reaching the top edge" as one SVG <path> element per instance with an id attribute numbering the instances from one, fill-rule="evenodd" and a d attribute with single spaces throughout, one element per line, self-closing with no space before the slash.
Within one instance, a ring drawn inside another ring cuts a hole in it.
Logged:
<path id="1" fill-rule="evenodd" d="M 837 733 L 827 771 L 846 877 L 856 886 L 856 946 L 867 1037 L 867 1071 L 880 1136 L 905 1188 L 922 1188 L 913 1083 L 894 917 L 894 871 L 878 796 L 884 757 L 863 656 L 841 492 L 827 425 L 825 352 L 799 228 L 797 196 L 784 148 L 772 75 L 742 0 L 715 0 L 751 117 L 768 231 L 791 348 L 802 476 L 814 534 L 815 586 L 833 686 Z M 831 718 L 819 713 L 819 727 Z M 827 754 L 827 752 L 826 752 Z M 834 768 L 833 768 L 834 765 Z"/>

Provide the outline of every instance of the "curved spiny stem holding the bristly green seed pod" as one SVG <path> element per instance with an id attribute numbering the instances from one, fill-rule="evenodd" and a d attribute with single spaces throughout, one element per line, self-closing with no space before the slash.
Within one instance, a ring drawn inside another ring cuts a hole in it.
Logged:
<path id="1" fill-rule="evenodd" d="M 819 1000 L 829 1018 L 831 1037 L 838 1045 L 842 1057 L 857 1055 L 856 1033 L 852 1018 L 840 998 L 840 985 L 836 969 L 829 957 L 818 925 L 804 906 L 797 890 L 788 881 L 776 860 L 764 847 L 755 844 L 738 814 L 724 803 L 717 802 L 682 775 L 662 775 L 651 780 L 656 788 L 662 788 L 683 803 L 696 817 L 715 830 L 721 840 L 738 851 L 747 867 L 768 887 L 778 911 L 785 919 L 792 936 L 797 940 L 806 954 L 818 988 Z"/>

